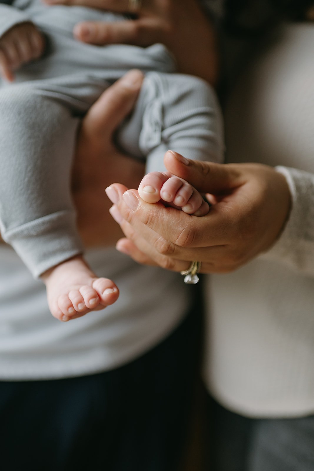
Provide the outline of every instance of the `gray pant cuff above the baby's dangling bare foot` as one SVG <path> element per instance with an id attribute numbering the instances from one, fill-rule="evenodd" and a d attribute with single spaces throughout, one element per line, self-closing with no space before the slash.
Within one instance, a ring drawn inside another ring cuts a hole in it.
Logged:
<path id="1" fill-rule="evenodd" d="M 12 245 L 34 278 L 83 252 L 73 211 L 58 211 L 9 229 L 3 239 Z"/>

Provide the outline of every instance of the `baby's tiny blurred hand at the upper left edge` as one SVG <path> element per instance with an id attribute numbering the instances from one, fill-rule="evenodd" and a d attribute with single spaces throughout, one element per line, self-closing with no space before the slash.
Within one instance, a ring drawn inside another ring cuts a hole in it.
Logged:
<path id="1" fill-rule="evenodd" d="M 13 71 L 38 59 L 44 48 L 44 37 L 34 24 L 22 23 L 13 26 L 0 38 L 0 75 L 8 81 L 13 81 Z"/>

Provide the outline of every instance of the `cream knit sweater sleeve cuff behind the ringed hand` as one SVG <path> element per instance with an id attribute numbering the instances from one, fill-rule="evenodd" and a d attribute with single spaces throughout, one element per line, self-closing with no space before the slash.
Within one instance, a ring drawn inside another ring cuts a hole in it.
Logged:
<path id="1" fill-rule="evenodd" d="M 314 174 L 288 167 L 276 171 L 288 182 L 292 207 L 282 235 L 261 257 L 314 276 Z"/>

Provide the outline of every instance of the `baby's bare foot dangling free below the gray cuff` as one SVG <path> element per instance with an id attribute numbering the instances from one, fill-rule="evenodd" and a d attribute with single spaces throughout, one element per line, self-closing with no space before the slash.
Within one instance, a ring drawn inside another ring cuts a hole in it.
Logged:
<path id="1" fill-rule="evenodd" d="M 107 278 L 97 278 L 82 257 L 51 268 L 42 280 L 51 314 L 64 322 L 105 309 L 119 297 L 117 286 Z"/>

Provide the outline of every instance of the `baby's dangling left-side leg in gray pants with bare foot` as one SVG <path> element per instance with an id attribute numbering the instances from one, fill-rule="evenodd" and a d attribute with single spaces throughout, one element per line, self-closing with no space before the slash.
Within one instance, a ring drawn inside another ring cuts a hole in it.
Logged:
<path id="1" fill-rule="evenodd" d="M 16 85 L 0 91 L 0 122 L 3 239 L 33 276 L 46 272 L 55 317 L 112 304 L 118 290 L 97 279 L 81 258 L 75 226 L 70 180 L 78 120 L 44 91 Z"/>

